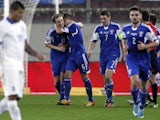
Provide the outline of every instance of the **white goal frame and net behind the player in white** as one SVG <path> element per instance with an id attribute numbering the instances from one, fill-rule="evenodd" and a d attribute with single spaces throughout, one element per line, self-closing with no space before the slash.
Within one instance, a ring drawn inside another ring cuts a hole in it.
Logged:
<path id="1" fill-rule="evenodd" d="M 9 12 L 9 5 L 17 0 L 3 0 L 1 4 L 4 7 L 4 16 L 8 16 Z M 23 21 L 26 23 L 27 26 L 27 35 L 28 35 L 28 42 L 30 39 L 30 32 L 31 32 L 31 25 L 33 20 L 33 15 L 35 9 L 39 3 L 39 0 L 18 0 L 25 6 L 25 14 L 23 16 Z M 24 73 L 25 73 L 25 87 L 28 87 L 28 55 L 25 54 L 25 62 L 24 62 Z"/>

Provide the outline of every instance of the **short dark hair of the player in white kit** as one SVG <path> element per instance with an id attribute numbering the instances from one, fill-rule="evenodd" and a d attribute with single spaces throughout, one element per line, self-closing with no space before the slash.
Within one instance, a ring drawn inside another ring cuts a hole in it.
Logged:
<path id="1" fill-rule="evenodd" d="M 24 5 L 20 2 L 20 1 L 14 1 L 11 5 L 10 5 L 10 11 L 15 11 L 18 9 L 25 9 Z"/>

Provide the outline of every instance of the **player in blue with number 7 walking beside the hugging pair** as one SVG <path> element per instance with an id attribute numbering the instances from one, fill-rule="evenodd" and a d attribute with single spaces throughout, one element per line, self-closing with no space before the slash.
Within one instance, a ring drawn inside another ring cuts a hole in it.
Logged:
<path id="1" fill-rule="evenodd" d="M 101 24 L 98 25 L 92 35 L 90 41 L 88 56 L 91 57 L 92 51 L 98 40 L 100 43 L 100 72 L 103 75 L 106 91 L 105 107 L 114 107 L 112 97 L 113 80 L 112 76 L 115 72 L 118 59 L 120 57 L 120 48 L 118 35 L 120 34 L 120 26 L 117 23 L 111 22 L 109 11 L 102 11 L 100 14 Z"/>

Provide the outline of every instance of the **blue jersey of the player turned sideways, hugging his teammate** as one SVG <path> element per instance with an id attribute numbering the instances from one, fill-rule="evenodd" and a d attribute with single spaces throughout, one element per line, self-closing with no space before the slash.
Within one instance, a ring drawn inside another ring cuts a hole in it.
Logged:
<path id="1" fill-rule="evenodd" d="M 71 23 L 66 29 L 66 33 L 68 33 L 67 37 L 70 46 L 70 55 L 85 53 L 86 50 L 83 44 L 83 37 L 80 28 L 75 23 Z"/>

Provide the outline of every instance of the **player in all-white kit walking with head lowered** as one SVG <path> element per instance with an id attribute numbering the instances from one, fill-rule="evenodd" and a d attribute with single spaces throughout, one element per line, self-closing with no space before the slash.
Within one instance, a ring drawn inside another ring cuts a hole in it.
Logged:
<path id="1" fill-rule="evenodd" d="M 12 120 L 22 119 L 17 101 L 23 96 L 24 49 L 44 60 L 44 56 L 34 51 L 27 43 L 26 25 L 21 20 L 24 9 L 21 2 L 13 2 L 10 5 L 9 17 L 0 22 L 0 64 L 5 95 L 0 101 L 0 114 L 8 110 Z"/>

